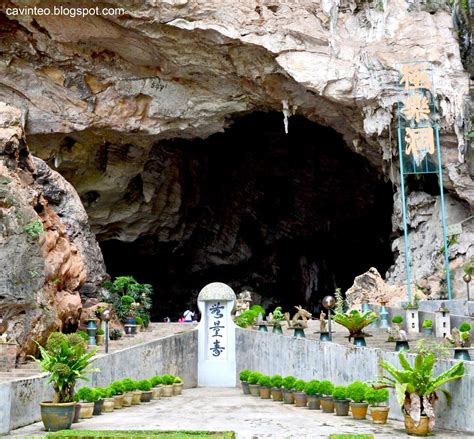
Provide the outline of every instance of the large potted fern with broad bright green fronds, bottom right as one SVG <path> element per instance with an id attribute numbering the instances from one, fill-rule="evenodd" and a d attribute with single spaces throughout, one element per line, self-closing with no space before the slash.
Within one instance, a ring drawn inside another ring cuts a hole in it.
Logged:
<path id="1" fill-rule="evenodd" d="M 405 429 L 408 434 L 427 436 L 434 428 L 434 406 L 438 395 L 437 389 L 450 381 L 464 376 L 464 363 L 459 361 L 446 372 L 433 377 L 435 357 L 433 354 L 418 354 L 413 366 L 402 353 L 398 355 L 402 369 L 382 360 L 380 362 L 391 377 L 383 377 L 380 386 L 394 388 L 397 401 L 405 415 Z M 439 389 L 447 397 L 451 395 L 446 389 Z"/>

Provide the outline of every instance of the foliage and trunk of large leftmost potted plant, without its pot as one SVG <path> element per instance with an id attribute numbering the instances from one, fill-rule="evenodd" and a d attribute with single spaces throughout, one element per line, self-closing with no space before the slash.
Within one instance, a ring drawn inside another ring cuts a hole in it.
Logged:
<path id="1" fill-rule="evenodd" d="M 91 368 L 97 350 L 86 352 L 84 339 L 78 334 L 53 332 L 45 347 L 37 345 L 41 359 L 31 358 L 40 365 L 42 372 L 49 373 L 48 383 L 53 384 L 55 403 L 72 402 L 77 380 L 89 381 L 87 375 L 99 371 Z"/>

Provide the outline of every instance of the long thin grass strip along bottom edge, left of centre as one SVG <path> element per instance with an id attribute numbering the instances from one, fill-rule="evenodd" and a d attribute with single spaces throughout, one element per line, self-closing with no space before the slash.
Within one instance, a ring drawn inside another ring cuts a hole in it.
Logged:
<path id="1" fill-rule="evenodd" d="M 235 439 L 235 433 L 231 431 L 61 430 L 48 433 L 46 437 L 64 439 Z"/>

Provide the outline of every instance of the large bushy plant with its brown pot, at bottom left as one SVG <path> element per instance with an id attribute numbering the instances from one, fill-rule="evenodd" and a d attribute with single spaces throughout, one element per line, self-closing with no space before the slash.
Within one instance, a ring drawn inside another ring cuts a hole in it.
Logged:
<path id="1" fill-rule="evenodd" d="M 53 384 L 54 400 L 41 405 L 41 419 L 47 431 L 66 430 L 71 427 L 76 402 L 74 386 L 77 380 L 88 380 L 92 357 L 96 350 L 86 352 L 84 339 L 78 334 L 65 335 L 53 332 L 46 346 L 38 345 L 41 359 L 34 358 L 42 372 L 49 373 L 48 383 Z"/>

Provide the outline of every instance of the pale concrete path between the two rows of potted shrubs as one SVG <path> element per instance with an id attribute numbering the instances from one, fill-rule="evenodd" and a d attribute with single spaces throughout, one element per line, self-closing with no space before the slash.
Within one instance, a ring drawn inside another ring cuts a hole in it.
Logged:
<path id="1" fill-rule="evenodd" d="M 235 431 L 238 439 L 327 439 L 331 433 L 371 433 L 376 439 L 409 439 L 403 423 L 386 426 L 354 421 L 320 410 L 296 408 L 280 402 L 243 395 L 236 388 L 186 389 L 181 396 L 161 398 L 105 413 L 73 424 L 81 430 L 208 430 Z M 474 437 L 436 429 L 437 438 Z M 8 437 L 44 435 L 42 423 L 11 432 Z"/>

